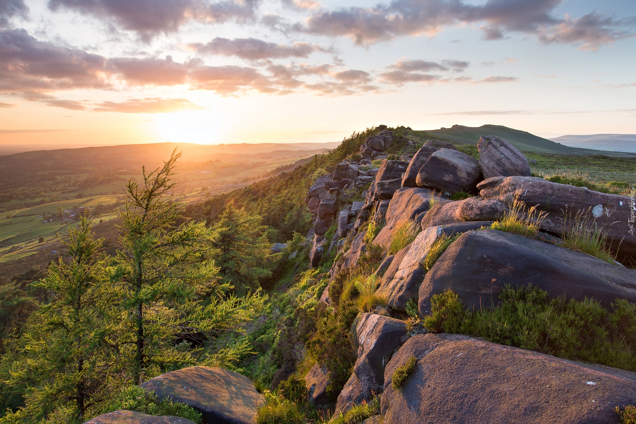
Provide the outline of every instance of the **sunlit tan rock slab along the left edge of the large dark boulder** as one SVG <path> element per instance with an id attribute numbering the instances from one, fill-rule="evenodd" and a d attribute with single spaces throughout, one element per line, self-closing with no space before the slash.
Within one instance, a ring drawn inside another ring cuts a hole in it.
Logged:
<path id="1" fill-rule="evenodd" d="M 410 249 L 406 250 L 401 258 L 393 277 L 390 281 L 384 280 L 384 284 L 380 286 L 377 294 L 384 296 L 393 310 L 406 311 L 408 299 L 413 299 L 416 304 L 418 303 L 418 291 L 426 275 L 421 264 L 431 250 L 433 243 L 443 235 L 450 237 L 490 224 L 491 222 L 485 221 L 462 222 L 425 229 L 410 244 Z"/>

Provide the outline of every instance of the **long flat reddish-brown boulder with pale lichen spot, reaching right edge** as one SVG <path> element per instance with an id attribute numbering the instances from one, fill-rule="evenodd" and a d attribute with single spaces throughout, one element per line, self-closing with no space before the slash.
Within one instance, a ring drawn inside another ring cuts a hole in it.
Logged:
<path id="1" fill-rule="evenodd" d="M 618 250 L 619 261 L 636 260 L 633 201 L 628 196 L 608 195 L 583 187 L 574 187 L 537 177 L 494 177 L 478 185 L 481 196 L 510 204 L 518 198 L 529 207 L 548 213 L 541 228 L 561 236 L 566 214 L 581 212 L 607 231 L 611 250 Z M 630 206 L 632 205 L 632 206 Z"/>

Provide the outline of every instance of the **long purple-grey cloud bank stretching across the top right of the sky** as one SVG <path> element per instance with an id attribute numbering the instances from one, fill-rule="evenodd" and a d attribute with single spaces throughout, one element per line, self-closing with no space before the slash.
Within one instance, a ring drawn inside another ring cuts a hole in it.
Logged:
<path id="1" fill-rule="evenodd" d="M 611 43 L 626 34 L 617 27 L 631 25 L 631 21 L 596 13 L 577 20 L 558 19 L 552 13 L 560 3 L 563 0 L 488 0 L 483 4 L 463 0 L 394 0 L 372 7 L 321 10 L 303 23 L 285 24 L 277 17 L 265 24 L 282 31 L 345 36 L 358 45 L 399 36 L 432 36 L 447 25 L 481 24 L 488 40 L 521 32 L 538 36 L 543 43 L 585 43 L 584 46 Z"/>

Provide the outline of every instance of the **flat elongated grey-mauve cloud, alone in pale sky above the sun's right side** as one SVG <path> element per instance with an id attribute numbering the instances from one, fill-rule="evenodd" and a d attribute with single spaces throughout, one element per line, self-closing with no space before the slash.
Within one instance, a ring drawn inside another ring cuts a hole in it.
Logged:
<path id="1" fill-rule="evenodd" d="M 192 43 L 190 47 L 202 54 L 236 56 L 247 60 L 308 57 L 315 50 L 323 50 L 320 46 L 309 43 L 294 43 L 291 46 L 286 46 L 255 38 L 227 39 L 219 37 L 207 44 Z"/>

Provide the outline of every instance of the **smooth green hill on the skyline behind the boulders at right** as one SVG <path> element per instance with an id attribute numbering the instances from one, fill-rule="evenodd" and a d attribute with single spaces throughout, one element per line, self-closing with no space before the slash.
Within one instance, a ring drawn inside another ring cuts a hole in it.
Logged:
<path id="1" fill-rule="evenodd" d="M 482 125 L 481 127 L 464 127 L 464 125 L 453 125 L 451 128 L 439 128 L 439 130 L 427 130 L 427 133 L 452 140 L 457 143 L 476 145 L 482 135 L 495 135 L 507 140 L 513 146 L 522 151 L 534 151 L 539 153 L 558 154 L 607 154 L 609 156 L 625 156 L 613 151 L 598 151 L 590 148 L 580 149 L 565 146 L 553 140 L 544 139 L 538 135 L 526 131 L 515 130 L 502 125 Z M 581 146 L 587 147 L 587 146 Z M 613 150 L 613 149 L 612 149 Z M 631 156 L 631 155 L 627 155 Z"/>

